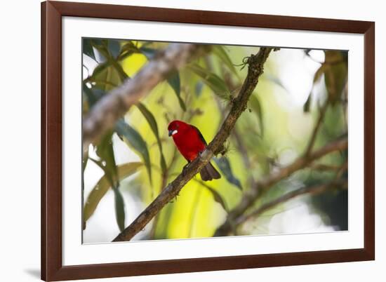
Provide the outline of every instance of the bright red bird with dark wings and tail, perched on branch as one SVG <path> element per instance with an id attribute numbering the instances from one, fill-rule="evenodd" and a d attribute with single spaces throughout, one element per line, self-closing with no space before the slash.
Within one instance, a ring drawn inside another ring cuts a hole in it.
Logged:
<path id="1" fill-rule="evenodd" d="M 168 126 L 169 136 L 173 137 L 175 146 L 182 156 L 190 163 L 197 158 L 200 152 L 208 145 L 199 128 L 183 121 L 172 121 Z M 201 179 L 209 181 L 219 179 L 220 173 L 208 162 L 200 171 Z"/>

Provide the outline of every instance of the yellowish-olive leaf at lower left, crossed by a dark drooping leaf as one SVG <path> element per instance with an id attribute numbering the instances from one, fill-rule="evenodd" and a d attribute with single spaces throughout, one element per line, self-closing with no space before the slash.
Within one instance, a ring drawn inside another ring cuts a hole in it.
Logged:
<path id="1" fill-rule="evenodd" d="M 133 175 L 138 171 L 138 168 L 142 166 L 142 163 L 133 162 L 133 163 L 124 163 L 120 166 L 117 166 L 118 170 L 118 180 L 124 180 L 126 177 Z M 88 195 L 86 203 L 84 205 L 84 220 L 88 220 L 91 215 L 95 212 L 95 209 L 98 206 L 100 200 L 105 196 L 107 191 L 112 187 L 107 175 L 103 175 L 98 183 L 95 185 L 91 193 Z"/>

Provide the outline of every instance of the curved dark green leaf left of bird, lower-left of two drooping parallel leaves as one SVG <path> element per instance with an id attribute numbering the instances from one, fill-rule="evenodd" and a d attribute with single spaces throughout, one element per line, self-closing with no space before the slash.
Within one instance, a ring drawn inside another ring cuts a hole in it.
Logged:
<path id="1" fill-rule="evenodd" d="M 115 131 L 118 135 L 121 135 L 125 138 L 125 140 L 128 142 L 128 145 L 140 153 L 149 175 L 149 181 L 152 183 L 152 166 L 150 163 L 149 150 L 147 149 L 145 140 L 143 140 L 142 136 L 140 133 L 138 133 L 137 130 L 129 126 L 128 123 L 126 123 L 123 119 L 117 121 L 115 125 Z"/>

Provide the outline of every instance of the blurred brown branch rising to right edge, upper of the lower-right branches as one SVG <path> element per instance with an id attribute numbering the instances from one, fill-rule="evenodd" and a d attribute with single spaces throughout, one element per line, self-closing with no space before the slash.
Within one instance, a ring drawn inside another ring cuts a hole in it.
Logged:
<path id="1" fill-rule="evenodd" d="M 308 155 L 300 156 L 290 165 L 281 168 L 279 171 L 271 173 L 267 175 L 267 177 L 257 181 L 252 189 L 244 193 L 240 203 L 233 210 L 231 210 L 231 212 L 228 214 L 227 220 L 220 227 L 218 227 L 214 236 L 227 236 L 229 231 L 233 229 L 233 224 L 235 220 L 237 220 L 237 217 L 244 214 L 245 211 L 253 205 L 262 191 L 269 189 L 269 187 L 271 187 L 273 184 L 283 180 L 295 171 L 305 168 L 307 165 L 321 158 L 322 156 L 325 156 L 326 154 L 342 149 L 347 149 L 347 144 L 347 138 L 331 142 L 328 145 L 321 147 L 317 151 L 314 151 Z"/>

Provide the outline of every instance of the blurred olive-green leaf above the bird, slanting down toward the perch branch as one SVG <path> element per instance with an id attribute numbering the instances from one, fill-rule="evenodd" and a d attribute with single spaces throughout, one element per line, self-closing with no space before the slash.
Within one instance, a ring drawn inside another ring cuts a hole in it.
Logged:
<path id="1" fill-rule="evenodd" d="M 209 72 L 208 69 L 204 69 L 197 64 L 189 65 L 187 69 L 200 76 L 204 83 L 209 88 L 211 88 L 211 90 L 213 90 L 215 95 L 218 95 L 218 97 L 224 100 L 230 100 L 231 93 L 227 87 L 227 84 L 220 78 L 220 76 Z"/>

